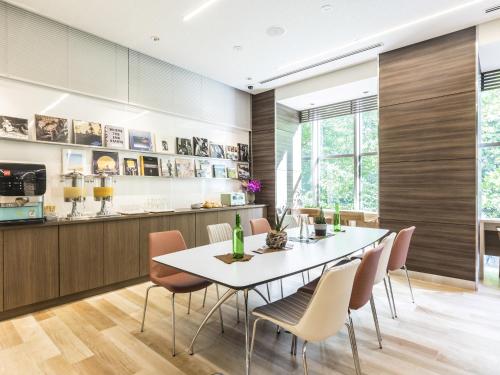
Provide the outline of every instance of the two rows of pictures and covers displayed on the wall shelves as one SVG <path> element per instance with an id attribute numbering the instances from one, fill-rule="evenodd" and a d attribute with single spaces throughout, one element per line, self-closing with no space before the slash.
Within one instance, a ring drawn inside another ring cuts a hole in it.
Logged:
<path id="1" fill-rule="evenodd" d="M 248 144 L 244 143 L 223 145 L 202 137 L 153 135 L 144 130 L 127 130 L 120 126 L 76 119 L 70 122 L 66 118 L 38 114 L 35 115 L 34 127 L 35 141 L 101 148 L 92 149 L 90 165 L 87 165 L 89 161 L 85 149 L 63 149 L 63 174 L 73 171 L 85 173 L 90 166 L 92 174 L 250 178 L 250 151 Z M 28 119 L 0 115 L 0 138 L 30 140 Z M 149 155 L 126 155 L 120 162 L 120 150 Z M 228 166 L 215 159 L 232 161 L 236 166 Z"/>

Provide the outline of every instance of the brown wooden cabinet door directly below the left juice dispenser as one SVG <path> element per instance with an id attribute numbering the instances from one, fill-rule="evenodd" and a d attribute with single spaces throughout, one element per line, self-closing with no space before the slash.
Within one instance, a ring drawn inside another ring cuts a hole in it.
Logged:
<path id="1" fill-rule="evenodd" d="M 104 285 L 103 228 L 103 223 L 60 226 L 61 296 Z"/>

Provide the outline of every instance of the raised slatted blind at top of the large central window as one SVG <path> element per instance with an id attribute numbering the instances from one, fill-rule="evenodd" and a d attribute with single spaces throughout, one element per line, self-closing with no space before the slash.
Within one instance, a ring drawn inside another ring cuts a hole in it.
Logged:
<path id="1" fill-rule="evenodd" d="M 352 115 L 378 109 L 378 96 L 367 96 L 341 103 L 334 103 L 322 107 L 300 111 L 300 122 L 324 120 L 331 117 Z"/>

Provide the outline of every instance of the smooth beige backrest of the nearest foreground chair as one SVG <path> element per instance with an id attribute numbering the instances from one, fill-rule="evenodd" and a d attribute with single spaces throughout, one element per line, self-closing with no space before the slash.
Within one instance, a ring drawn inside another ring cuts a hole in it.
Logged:
<path id="1" fill-rule="evenodd" d="M 322 341 L 335 335 L 345 323 L 354 275 L 360 264 L 356 259 L 327 270 L 295 329 L 308 341 Z"/>

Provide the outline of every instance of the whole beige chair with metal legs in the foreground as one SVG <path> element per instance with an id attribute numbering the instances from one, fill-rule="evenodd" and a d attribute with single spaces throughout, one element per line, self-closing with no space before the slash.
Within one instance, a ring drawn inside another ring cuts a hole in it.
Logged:
<path id="1" fill-rule="evenodd" d="M 348 314 L 354 276 L 361 261 L 353 260 L 325 271 L 313 294 L 297 292 L 279 301 L 260 306 L 252 314 L 253 325 L 250 356 L 252 355 L 257 323 L 268 320 L 304 340 L 302 361 L 308 374 L 306 348 L 308 342 L 323 341 L 335 335 L 345 324 L 349 331 L 356 373 L 361 374 L 356 337 Z"/>

